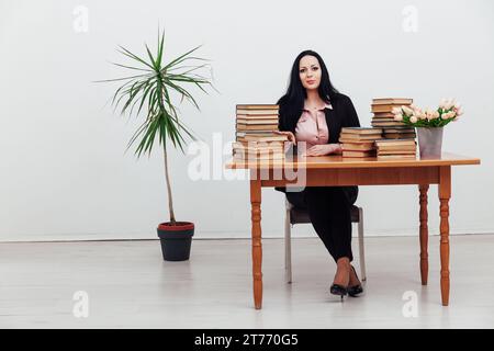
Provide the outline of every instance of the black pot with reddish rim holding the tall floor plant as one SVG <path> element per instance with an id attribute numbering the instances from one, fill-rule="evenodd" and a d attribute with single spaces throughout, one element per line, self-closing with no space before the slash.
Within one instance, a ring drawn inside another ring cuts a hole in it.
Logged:
<path id="1" fill-rule="evenodd" d="M 186 261 L 190 257 L 194 224 L 190 222 L 161 223 L 158 237 L 165 261 Z"/>

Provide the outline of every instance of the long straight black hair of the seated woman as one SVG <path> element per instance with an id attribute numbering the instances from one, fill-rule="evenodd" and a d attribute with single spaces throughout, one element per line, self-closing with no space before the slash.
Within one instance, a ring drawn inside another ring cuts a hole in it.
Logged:
<path id="1" fill-rule="evenodd" d="M 338 90 L 333 87 L 332 81 L 329 79 L 329 73 L 327 71 L 326 65 L 324 64 L 323 58 L 313 50 L 304 50 L 300 53 L 295 61 L 292 66 L 292 71 L 290 73 L 290 81 L 288 84 L 287 93 L 281 97 L 277 104 L 280 105 L 280 117 L 294 120 L 296 115 L 300 115 L 304 106 L 304 101 L 307 98 L 307 91 L 302 86 L 302 81 L 300 80 L 300 60 L 304 56 L 314 56 L 319 61 L 321 66 L 321 83 L 317 88 L 321 99 L 323 101 L 329 102 L 335 101 L 337 99 Z M 284 116 L 282 116 L 284 114 Z M 288 115 L 287 115 L 288 114 Z M 288 121 L 287 121 L 288 122 Z M 296 121 L 290 121 L 293 124 Z"/>

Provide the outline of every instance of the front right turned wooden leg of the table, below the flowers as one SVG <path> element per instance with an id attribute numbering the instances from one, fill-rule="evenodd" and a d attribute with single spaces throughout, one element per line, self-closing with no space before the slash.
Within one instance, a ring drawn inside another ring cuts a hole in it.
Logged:
<path id="1" fill-rule="evenodd" d="M 442 306 L 449 304 L 449 199 L 451 197 L 451 167 L 439 169 L 439 211 L 440 211 L 440 257 L 441 257 L 441 299 Z"/>

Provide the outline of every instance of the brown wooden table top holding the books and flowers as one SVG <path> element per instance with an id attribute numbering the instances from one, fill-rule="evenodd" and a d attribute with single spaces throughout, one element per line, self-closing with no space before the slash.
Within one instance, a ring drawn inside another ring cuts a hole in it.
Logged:
<path id="1" fill-rule="evenodd" d="M 276 168 L 381 168 L 381 167 L 430 167 L 430 166 L 458 166 L 480 165 L 481 160 L 457 154 L 442 152 L 440 158 L 415 159 L 378 159 L 377 157 L 349 158 L 341 155 L 294 157 L 293 160 L 229 160 L 227 169 L 276 169 Z"/>

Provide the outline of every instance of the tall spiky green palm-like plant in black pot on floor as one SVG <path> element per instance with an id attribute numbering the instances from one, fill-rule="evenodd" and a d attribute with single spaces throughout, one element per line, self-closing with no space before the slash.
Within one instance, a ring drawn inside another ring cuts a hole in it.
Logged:
<path id="1" fill-rule="evenodd" d="M 184 136 L 193 140 L 197 140 L 197 138 L 180 121 L 178 109 L 175 101 L 172 101 L 172 94 L 178 93 L 181 98 L 180 102 L 186 99 L 200 110 L 197 101 L 182 87 L 182 83 L 195 86 L 206 93 L 205 86 L 211 86 L 213 89 L 214 87 L 207 77 L 198 73 L 198 71 L 209 66 L 198 61 L 206 61 L 206 59 L 191 56 L 201 45 L 170 60 L 168 64 L 164 63 L 165 32 L 159 34 L 158 31 L 157 49 L 154 55 L 147 45 L 145 47 L 147 57 L 139 57 L 120 46 L 119 52 L 130 59 L 131 64 L 114 65 L 132 70 L 133 75 L 102 81 L 117 81 L 122 83 L 115 91 L 112 100 L 112 104 L 115 107 L 121 106 L 122 114 L 128 113 L 136 116 L 143 115 L 144 117 L 143 124 L 128 141 L 127 149 L 138 141 L 135 149 L 135 155 L 138 158 L 146 152 L 150 155 L 156 139 L 159 147 L 162 148 L 169 222 L 160 223 L 157 231 L 161 242 L 164 260 L 183 261 L 188 260 L 190 256 L 194 224 L 176 220 L 170 174 L 168 172 L 169 145 L 167 141 L 168 139 L 171 140 L 172 146 L 175 148 L 178 146 L 183 154 Z M 186 61 L 187 65 L 184 65 Z"/>

